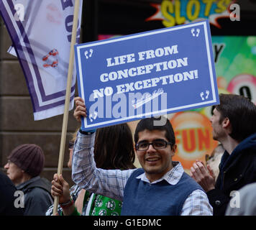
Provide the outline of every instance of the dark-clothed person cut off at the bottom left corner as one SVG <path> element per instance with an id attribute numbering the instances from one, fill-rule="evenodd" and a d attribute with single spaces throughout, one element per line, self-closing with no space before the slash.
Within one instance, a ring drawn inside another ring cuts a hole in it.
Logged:
<path id="1" fill-rule="evenodd" d="M 0 216 L 23 216 L 23 201 L 12 180 L 0 171 Z"/>

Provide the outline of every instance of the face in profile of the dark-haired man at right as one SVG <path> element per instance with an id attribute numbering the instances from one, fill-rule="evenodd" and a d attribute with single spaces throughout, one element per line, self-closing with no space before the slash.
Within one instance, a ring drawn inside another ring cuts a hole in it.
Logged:
<path id="1" fill-rule="evenodd" d="M 211 116 L 211 126 L 212 126 L 212 136 L 213 139 L 216 141 L 220 141 L 221 137 L 225 136 L 224 129 L 222 127 L 222 124 L 219 124 L 219 121 L 221 119 L 221 114 L 219 111 L 214 109 L 213 115 Z"/>

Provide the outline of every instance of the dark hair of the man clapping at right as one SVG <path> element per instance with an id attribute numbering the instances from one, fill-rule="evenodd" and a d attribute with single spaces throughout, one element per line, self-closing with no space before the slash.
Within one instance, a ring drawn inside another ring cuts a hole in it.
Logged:
<path id="1" fill-rule="evenodd" d="M 235 94 L 219 94 L 215 106 L 221 114 L 220 123 L 227 117 L 232 126 L 230 137 L 241 142 L 256 132 L 256 106 L 248 98 Z"/>

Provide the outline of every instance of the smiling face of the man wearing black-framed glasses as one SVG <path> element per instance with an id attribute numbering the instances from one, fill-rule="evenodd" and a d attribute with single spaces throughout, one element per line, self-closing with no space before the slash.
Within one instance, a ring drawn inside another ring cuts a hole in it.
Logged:
<path id="1" fill-rule="evenodd" d="M 138 136 L 139 139 L 137 143 L 151 143 L 156 140 L 165 140 L 168 142 L 168 139 L 165 137 L 165 131 L 161 130 L 149 131 L 145 129 L 139 132 Z M 142 165 L 145 170 L 145 174 L 150 182 L 162 178 L 166 172 L 173 168 L 172 156 L 174 155 L 175 149 L 176 145 L 174 145 L 172 149 L 170 144 L 164 149 L 154 149 L 152 144 L 150 144 L 147 150 L 140 151 L 135 149 L 140 165 Z"/>

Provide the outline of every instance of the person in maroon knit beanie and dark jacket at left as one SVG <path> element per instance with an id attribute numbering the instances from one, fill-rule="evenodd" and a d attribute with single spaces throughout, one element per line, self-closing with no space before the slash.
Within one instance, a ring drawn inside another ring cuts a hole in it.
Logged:
<path id="1" fill-rule="evenodd" d="M 45 165 L 42 149 L 37 144 L 21 144 L 7 159 L 6 174 L 17 190 L 24 193 L 24 216 L 44 216 L 53 199 L 50 181 L 40 178 Z"/>

